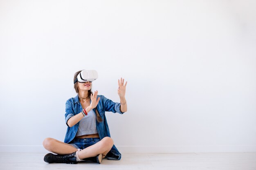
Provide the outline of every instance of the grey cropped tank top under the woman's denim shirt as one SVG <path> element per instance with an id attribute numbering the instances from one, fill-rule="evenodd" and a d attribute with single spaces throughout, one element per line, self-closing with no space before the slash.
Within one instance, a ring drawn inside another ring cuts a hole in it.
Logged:
<path id="1" fill-rule="evenodd" d="M 96 129 L 96 115 L 92 109 L 88 112 L 87 116 L 80 120 L 76 137 L 95 133 L 98 133 L 98 131 Z"/>

